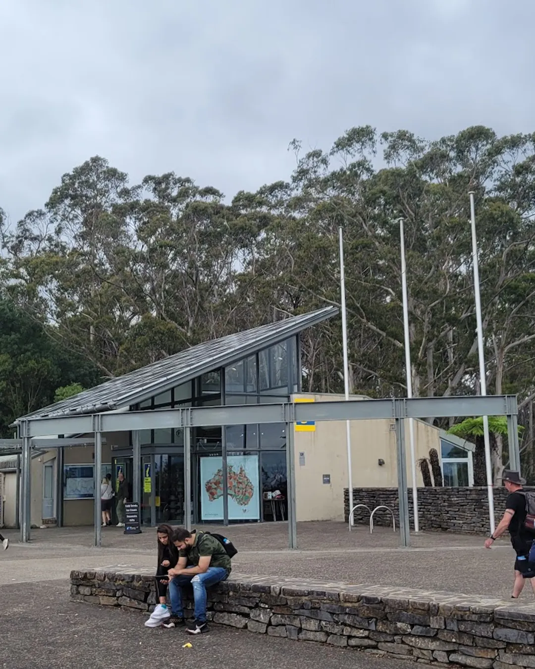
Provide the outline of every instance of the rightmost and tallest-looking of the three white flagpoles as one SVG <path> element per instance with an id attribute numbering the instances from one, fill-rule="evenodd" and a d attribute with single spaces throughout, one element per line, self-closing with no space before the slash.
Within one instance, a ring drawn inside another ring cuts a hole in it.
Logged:
<path id="1" fill-rule="evenodd" d="M 480 395 L 487 394 L 487 381 L 485 371 L 485 355 L 483 351 L 483 320 L 481 315 L 481 295 L 479 293 L 479 264 L 477 262 L 477 237 L 475 235 L 475 207 L 473 203 L 473 191 L 469 191 L 470 196 L 470 223 L 472 231 L 472 264 L 473 264 L 473 294 L 475 296 L 475 320 L 477 322 L 477 354 L 479 356 L 479 387 Z M 489 436 L 489 418 L 483 417 L 483 433 L 485 441 L 485 464 L 487 470 L 487 495 L 489 500 L 489 522 L 490 533 L 493 535 L 496 529 L 494 521 L 494 491 L 492 489 L 492 462 L 490 459 L 490 436 Z"/>

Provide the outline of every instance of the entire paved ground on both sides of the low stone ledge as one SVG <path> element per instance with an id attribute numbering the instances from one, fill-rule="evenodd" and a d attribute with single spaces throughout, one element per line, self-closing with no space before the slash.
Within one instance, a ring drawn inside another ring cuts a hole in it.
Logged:
<path id="1" fill-rule="evenodd" d="M 209 529 L 209 528 L 205 528 Z M 221 532 L 221 527 L 217 531 Z M 179 630 L 147 630 L 136 611 L 69 601 L 71 569 L 109 565 L 155 567 L 156 533 L 125 536 L 103 530 L 103 547 L 92 546 L 92 528 L 32 531 L 32 541 L 18 543 L 18 533 L 0 551 L 0 667 L 5 669 L 153 669 L 181 664 L 185 669 L 293 669 L 318 666 L 339 669 L 409 669 L 413 663 L 384 660 L 354 650 L 290 642 L 249 632 L 213 627 L 211 634 L 183 649 Z M 227 528 L 239 549 L 235 573 L 314 577 L 350 583 L 381 583 L 508 597 L 512 549 L 507 540 L 492 551 L 482 537 L 421 534 L 410 549 L 399 548 L 399 535 L 364 527 L 351 533 L 344 524 L 302 523 L 300 548 L 289 551 L 286 523 Z M 534 599 L 526 588 L 526 601 Z"/>

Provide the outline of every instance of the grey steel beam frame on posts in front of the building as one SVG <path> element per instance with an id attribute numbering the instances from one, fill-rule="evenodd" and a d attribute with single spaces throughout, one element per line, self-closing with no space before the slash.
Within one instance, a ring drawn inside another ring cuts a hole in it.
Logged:
<path id="1" fill-rule="evenodd" d="M 71 415 L 58 417 L 27 417 L 20 421 L 19 436 L 23 444 L 22 458 L 22 510 L 21 541 L 29 541 L 30 527 L 30 480 L 29 458 L 31 440 L 39 436 L 55 434 L 95 434 L 95 462 L 101 458 L 102 432 L 122 432 L 163 427 L 183 427 L 185 432 L 185 462 L 189 463 L 191 427 L 210 425 L 243 425 L 251 423 L 287 423 L 287 448 L 293 444 L 293 423 L 299 421 L 332 421 L 362 419 L 394 419 L 397 438 L 397 472 L 399 494 L 399 520 L 401 546 L 410 544 L 409 500 L 407 496 L 407 458 L 405 454 L 405 419 L 432 417 L 459 417 L 482 415 L 506 415 L 508 418 L 510 466 L 520 470 L 518 451 L 518 407 L 515 395 L 488 395 L 466 397 L 415 397 L 411 399 L 368 399 L 359 401 L 333 401 L 315 403 L 281 402 L 274 404 L 250 404 L 221 407 L 187 407 L 182 409 L 160 409 L 154 411 L 122 411 L 95 413 L 93 415 Z M 40 440 L 39 440 L 40 441 Z M 39 442 L 37 442 L 39 443 Z M 295 468 L 293 458 L 288 458 L 288 532 L 290 548 L 297 548 L 295 509 Z M 190 464 L 185 467 L 185 490 L 190 490 Z M 95 477 L 95 504 L 100 498 L 100 481 Z M 290 506 L 292 508 L 290 508 Z M 185 498 L 185 518 L 191 518 L 191 498 Z M 95 545 L 100 546 L 100 520 L 95 511 Z"/>

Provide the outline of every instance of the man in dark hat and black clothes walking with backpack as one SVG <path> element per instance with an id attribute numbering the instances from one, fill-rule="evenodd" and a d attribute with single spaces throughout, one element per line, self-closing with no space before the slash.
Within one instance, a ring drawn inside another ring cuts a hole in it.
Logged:
<path id="1" fill-rule="evenodd" d="M 516 560 L 514 563 L 514 586 L 513 594 L 511 595 L 513 599 L 516 599 L 522 592 L 526 578 L 530 579 L 532 589 L 535 593 L 535 581 L 532 578 L 533 574 L 528 569 L 528 555 L 535 536 L 530 533 L 524 525 L 527 510 L 526 495 L 524 494 L 522 486 L 526 481 L 523 478 L 520 478 L 519 472 L 514 472 L 508 469 L 504 470 L 502 480 L 509 493 L 506 499 L 506 510 L 504 517 L 500 520 L 498 527 L 494 531 L 494 535 L 490 535 L 486 540 L 485 548 L 492 547 L 492 544 L 498 537 L 501 537 L 506 531 L 509 531 L 512 547 L 516 553 Z M 527 573 L 530 573 L 530 575 L 527 576 Z"/>

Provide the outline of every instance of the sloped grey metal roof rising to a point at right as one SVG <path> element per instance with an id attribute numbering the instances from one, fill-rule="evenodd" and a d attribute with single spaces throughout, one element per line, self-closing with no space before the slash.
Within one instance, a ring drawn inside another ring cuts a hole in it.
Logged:
<path id="1" fill-rule="evenodd" d="M 278 344 L 306 328 L 331 318 L 338 308 L 329 306 L 318 311 L 292 316 L 252 330 L 230 334 L 175 353 L 122 377 L 85 390 L 74 397 L 52 404 L 17 419 L 60 417 L 82 413 L 102 413 L 144 401 L 213 369 L 225 367 L 256 351 Z"/>

